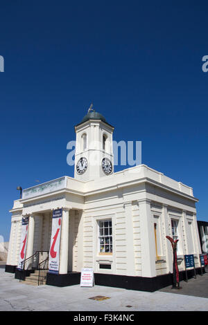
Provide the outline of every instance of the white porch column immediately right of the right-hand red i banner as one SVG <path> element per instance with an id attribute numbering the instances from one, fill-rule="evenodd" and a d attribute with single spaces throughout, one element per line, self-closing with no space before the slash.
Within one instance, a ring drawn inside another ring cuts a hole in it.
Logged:
<path id="1" fill-rule="evenodd" d="M 68 250 L 69 250 L 69 209 L 62 209 L 62 230 L 60 239 L 60 261 L 59 274 L 64 275 L 68 272 Z"/>

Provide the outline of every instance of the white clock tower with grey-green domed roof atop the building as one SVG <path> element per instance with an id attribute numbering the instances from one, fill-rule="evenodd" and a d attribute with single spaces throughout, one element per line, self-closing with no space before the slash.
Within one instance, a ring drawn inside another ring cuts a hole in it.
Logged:
<path id="1" fill-rule="evenodd" d="M 87 181 L 113 173 L 112 133 L 114 127 L 90 106 L 76 125 L 74 178 Z"/>

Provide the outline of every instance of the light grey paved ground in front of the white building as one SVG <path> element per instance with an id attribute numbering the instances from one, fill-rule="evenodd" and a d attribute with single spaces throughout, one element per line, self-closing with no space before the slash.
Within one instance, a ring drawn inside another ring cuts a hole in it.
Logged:
<path id="1" fill-rule="evenodd" d="M 207 281 L 207 275 L 202 276 Z M 193 281 L 201 281 L 193 279 Z M 191 284 L 189 281 L 188 284 Z M 184 286 L 184 282 L 182 282 Z M 183 289 L 182 289 L 183 290 Z M 0 268 L 0 310 L 72 310 L 72 311 L 200 311 L 208 310 L 208 299 L 164 292 L 146 293 L 105 286 L 80 288 L 68 286 L 30 286 L 14 279 L 14 275 Z M 110 297 L 103 301 L 89 299 L 97 295 Z M 131 306 L 131 307 L 127 307 Z"/>

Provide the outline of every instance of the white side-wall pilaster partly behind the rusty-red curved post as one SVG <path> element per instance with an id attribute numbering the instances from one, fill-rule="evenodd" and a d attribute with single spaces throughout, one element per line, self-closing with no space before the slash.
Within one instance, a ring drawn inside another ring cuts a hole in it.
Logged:
<path id="1" fill-rule="evenodd" d="M 168 205 L 163 204 L 162 210 L 163 210 L 162 219 L 163 219 L 164 230 L 165 230 L 164 247 L 165 247 L 165 255 L 166 255 L 167 272 L 173 272 L 173 252 L 172 252 L 171 245 L 168 244 L 168 239 L 166 239 L 166 236 L 172 237 L 172 234 L 170 232 L 169 220 L 168 220 Z"/>

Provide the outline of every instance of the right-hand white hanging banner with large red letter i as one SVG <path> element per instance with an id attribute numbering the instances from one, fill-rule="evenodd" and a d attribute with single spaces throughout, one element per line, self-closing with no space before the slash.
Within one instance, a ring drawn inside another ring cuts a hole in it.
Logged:
<path id="1" fill-rule="evenodd" d="M 49 273 L 58 275 L 60 233 L 62 225 L 62 209 L 53 210 L 51 246 L 49 251 Z"/>

